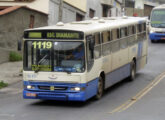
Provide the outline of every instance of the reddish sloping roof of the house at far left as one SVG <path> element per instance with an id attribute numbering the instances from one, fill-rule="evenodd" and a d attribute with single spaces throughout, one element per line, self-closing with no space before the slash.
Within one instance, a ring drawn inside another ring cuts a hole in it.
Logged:
<path id="1" fill-rule="evenodd" d="M 27 7 L 27 6 L 17 6 L 17 5 L 16 5 L 16 6 L 8 7 L 8 8 L 6 8 L 6 9 L 0 11 L 0 16 L 1 16 L 1 15 L 5 15 L 5 14 L 8 14 L 8 13 L 11 13 L 11 12 L 13 12 L 13 11 L 15 11 L 15 10 L 20 9 L 20 8 L 25 8 L 25 9 L 29 9 L 29 10 L 32 10 L 32 11 L 36 11 L 36 12 L 39 12 L 39 13 L 48 15 L 48 14 L 46 14 L 46 13 L 44 13 L 44 12 L 41 12 L 41 11 L 39 11 L 39 10 L 35 10 L 35 9 L 32 9 L 32 8 L 29 8 L 29 7 Z"/>

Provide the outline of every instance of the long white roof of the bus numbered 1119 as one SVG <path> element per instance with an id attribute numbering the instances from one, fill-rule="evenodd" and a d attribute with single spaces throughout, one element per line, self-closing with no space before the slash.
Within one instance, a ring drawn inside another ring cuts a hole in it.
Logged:
<path id="1" fill-rule="evenodd" d="M 128 26 L 130 24 L 138 24 L 145 22 L 144 17 L 108 17 L 108 18 L 93 18 L 91 20 L 71 22 L 71 23 L 57 23 L 53 26 L 46 26 L 34 29 L 27 29 L 25 31 L 38 30 L 72 30 L 90 33 L 94 31 L 108 30 L 116 27 Z"/>

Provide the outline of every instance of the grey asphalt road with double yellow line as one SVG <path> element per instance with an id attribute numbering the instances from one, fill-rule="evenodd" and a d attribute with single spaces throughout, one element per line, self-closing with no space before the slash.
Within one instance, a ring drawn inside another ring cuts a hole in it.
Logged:
<path id="1" fill-rule="evenodd" d="M 13 84 L 0 91 L 0 120 L 164 120 L 164 46 L 149 42 L 148 64 L 136 79 L 108 89 L 99 101 L 24 100 L 22 82 Z"/>

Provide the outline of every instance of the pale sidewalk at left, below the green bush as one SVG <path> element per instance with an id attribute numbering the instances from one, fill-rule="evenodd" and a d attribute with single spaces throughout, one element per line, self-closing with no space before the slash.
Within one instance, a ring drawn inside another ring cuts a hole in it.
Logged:
<path id="1" fill-rule="evenodd" d="M 0 64 L 0 81 L 13 84 L 22 80 L 20 73 L 22 71 L 21 62 L 7 62 Z"/>

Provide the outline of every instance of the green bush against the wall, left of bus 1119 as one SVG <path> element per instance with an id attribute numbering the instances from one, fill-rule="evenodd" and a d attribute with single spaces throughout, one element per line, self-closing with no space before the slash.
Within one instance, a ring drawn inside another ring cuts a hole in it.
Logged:
<path id="1" fill-rule="evenodd" d="M 22 55 L 14 51 L 10 52 L 9 61 L 14 62 L 14 61 L 21 61 L 21 60 L 22 60 Z"/>

